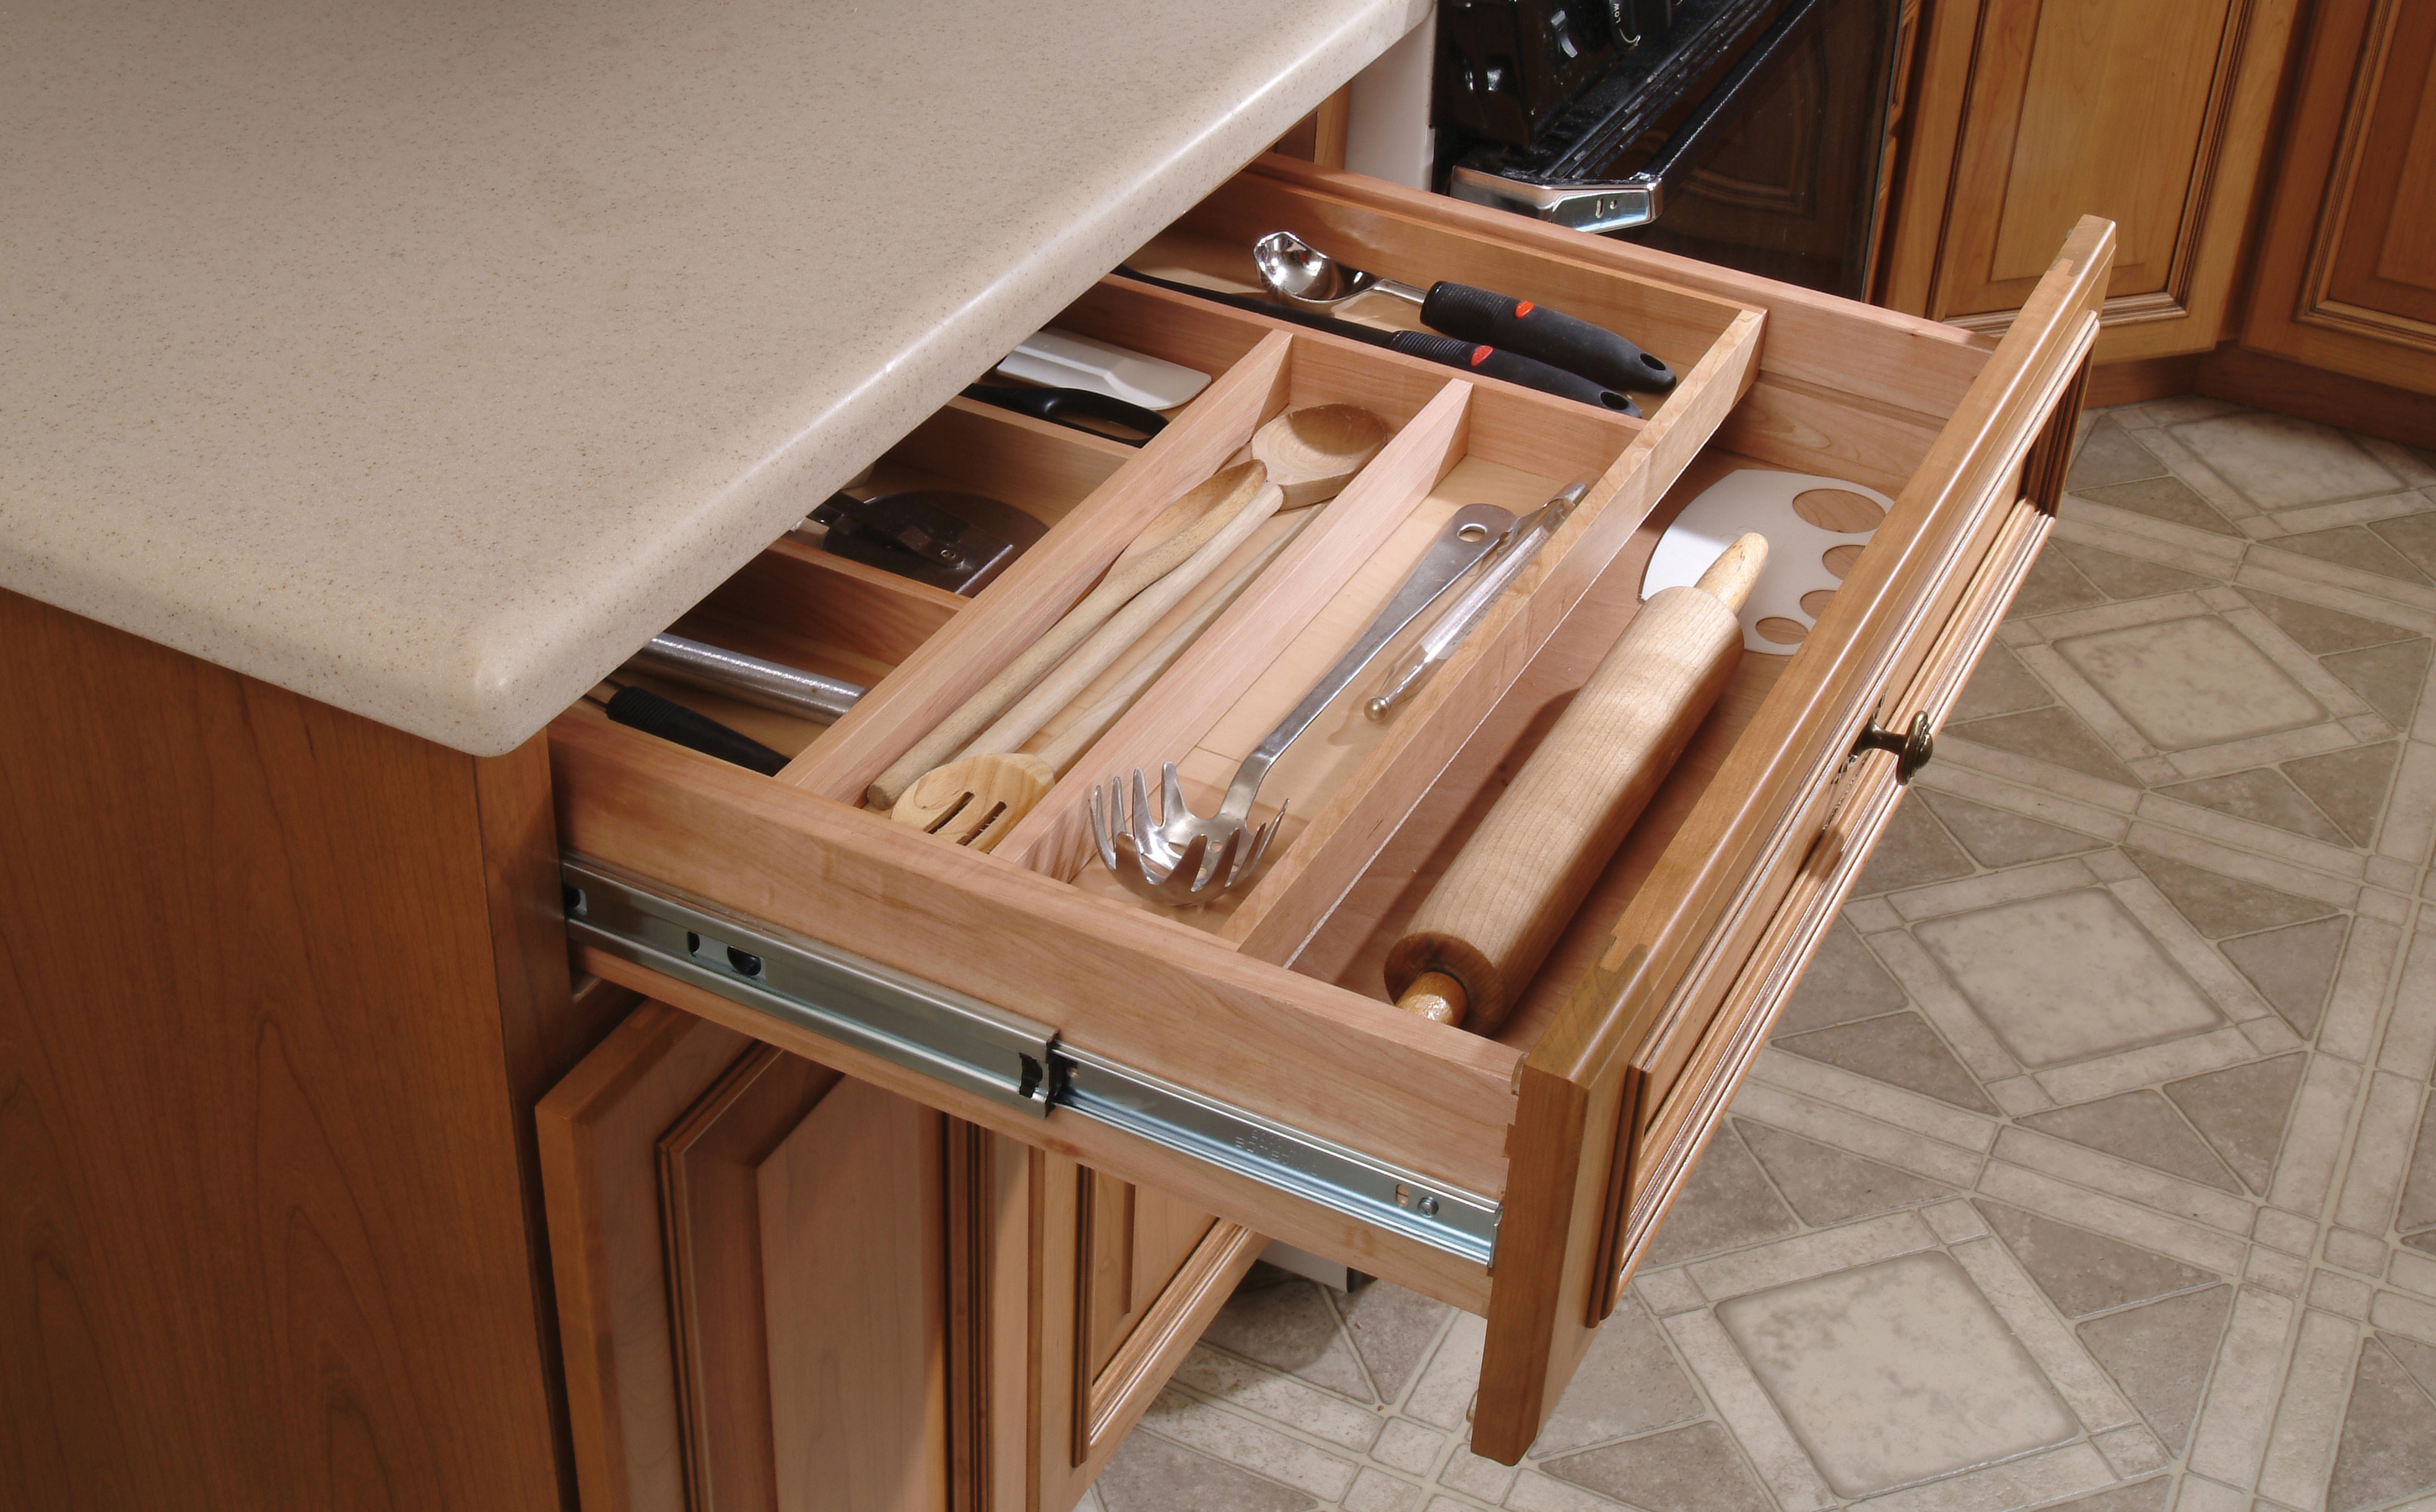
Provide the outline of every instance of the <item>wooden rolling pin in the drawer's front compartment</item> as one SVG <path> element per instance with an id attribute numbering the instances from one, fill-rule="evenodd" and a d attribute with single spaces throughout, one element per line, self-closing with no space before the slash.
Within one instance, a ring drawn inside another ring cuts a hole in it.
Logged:
<path id="1" fill-rule="evenodd" d="M 1766 560 L 1744 536 L 1642 604 L 1386 952 L 1398 1008 L 1496 1032 L 1725 691 Z"/>

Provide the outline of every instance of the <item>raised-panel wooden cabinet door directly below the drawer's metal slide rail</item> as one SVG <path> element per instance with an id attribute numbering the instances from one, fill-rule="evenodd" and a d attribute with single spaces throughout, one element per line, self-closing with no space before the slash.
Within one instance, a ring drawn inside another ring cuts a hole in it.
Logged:
<path id="1" fill-rule="evenodd" d="M 538 1122 L 587 1512 L 972 1505 L 940 1113 L 646 1003 Z"/>

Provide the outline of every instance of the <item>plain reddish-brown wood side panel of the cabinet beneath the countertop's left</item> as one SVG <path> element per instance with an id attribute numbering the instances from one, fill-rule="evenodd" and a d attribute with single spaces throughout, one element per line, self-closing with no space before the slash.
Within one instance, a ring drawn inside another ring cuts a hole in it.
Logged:
<path id="1" fill-rule="evenodd" d="M 524 1108 L 607 1008 L 541 740 L 0 635 L 0 1502 L 560 1505 Z"/>

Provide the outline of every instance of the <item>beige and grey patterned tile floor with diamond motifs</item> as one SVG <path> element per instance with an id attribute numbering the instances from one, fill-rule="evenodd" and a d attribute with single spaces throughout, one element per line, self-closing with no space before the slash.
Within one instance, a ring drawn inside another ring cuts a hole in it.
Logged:
<path id="1" fill-rule="evenodd" d="M 1479 1320 L 1262 1269 L 1084 1507 L 2436 1510 L 2431 638 L 2436 458 L 2093 416 L 1522 1468 Z"/>

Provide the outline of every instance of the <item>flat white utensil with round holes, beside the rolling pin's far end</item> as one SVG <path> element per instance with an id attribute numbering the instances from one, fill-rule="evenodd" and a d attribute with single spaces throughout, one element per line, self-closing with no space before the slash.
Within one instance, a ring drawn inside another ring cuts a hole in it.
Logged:
<path id="1" fill-rule="evenodd" d="M 1769 472 L 1742 467 L 1708 485 L 1698 499 L 1659 536 L 1642 572 L 1642 597 L 1678 587 L 1700 577 L 1725 543 L 1756 531 L 1769 538 L 1769 567 L 1742 606 L 1742 643 L 1769 655 L 1790 655 L 1793 645 L 1769 640 L 1759 633 L 1761 621 L 1786 618 L 1808 631 L 1817 618 L 1803 609 L 1803 597 L 1820 589 L 1834 592 L 1839 575 L 1827 567 L 1827 553 L 1837 545 L 1859 545 L 1871 531 L 1822 531 L 1793 509 L 1793 502 L 1812 489 L 1861 494 L 1878 509 L 1895 502 L 1873 487 L 1820 477 L 1815 472 Z"/>

